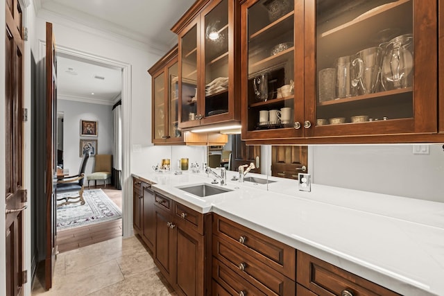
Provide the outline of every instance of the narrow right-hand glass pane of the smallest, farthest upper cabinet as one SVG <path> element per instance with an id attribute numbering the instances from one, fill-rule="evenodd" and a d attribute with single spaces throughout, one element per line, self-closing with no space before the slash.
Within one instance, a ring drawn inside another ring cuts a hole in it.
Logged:
<path id="1" fill-rule="evenodd" d="M 168 128 L 170 138 L 180 138 L 182 132 L 178 130 L 178 98 L 179 98 L 179 77 L 178 77 L 178 63 L 175 62 L 171 67 L 168 67 L 169 79 L 169 116 Z"/>

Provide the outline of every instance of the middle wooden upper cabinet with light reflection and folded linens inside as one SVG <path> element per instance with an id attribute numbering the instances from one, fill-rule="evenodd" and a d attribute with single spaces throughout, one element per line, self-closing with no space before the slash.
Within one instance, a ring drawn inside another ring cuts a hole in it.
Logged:
<path id="1" fill-rule="evenodd" d="M 239 1 L 196 1 L 179 39 L 179 128 L 239 123 Z"/>

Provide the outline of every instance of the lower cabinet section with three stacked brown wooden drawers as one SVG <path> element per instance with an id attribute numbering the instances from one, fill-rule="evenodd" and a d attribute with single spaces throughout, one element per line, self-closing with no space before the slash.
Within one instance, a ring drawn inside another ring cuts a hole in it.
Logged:
<path id="1" fill-rule="evenodd" d="M 212 277 L 232 295 L 296 293 L 293 247 L 216 214 L 212 255 Z"/>

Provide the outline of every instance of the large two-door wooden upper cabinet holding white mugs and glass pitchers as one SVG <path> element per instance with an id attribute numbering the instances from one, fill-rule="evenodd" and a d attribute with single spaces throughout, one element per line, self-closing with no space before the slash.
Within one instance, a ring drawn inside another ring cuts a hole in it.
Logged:
<path id="1" fill-rule="evenodd" d="M 444 131 L 438 119 L 437 1 L 336 2 L 242 3 L 242 138 L 443 141 L 437 134 L 438 122 Z M 292 92 L 282 88 L 292 81 Z M 289 121 L 282 115 L 286 107 Z M 269 112 L 267 121 L 261 111 Z"/>

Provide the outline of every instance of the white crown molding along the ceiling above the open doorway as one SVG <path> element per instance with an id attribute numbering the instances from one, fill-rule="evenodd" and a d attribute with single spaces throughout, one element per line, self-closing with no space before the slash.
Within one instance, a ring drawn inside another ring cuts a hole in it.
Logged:
<path id="1" fill-rule="evenodd" d="M 127 46 L 133 47 L 134 49 L 146 51 L 155 55 L 163 55 L 169 49 L 167 45 L 162 46 L 161 44 L 157 44 L 158 46 L 153 46 L 152 44 L 154 42 L 151 42 L 146 38 L 142 38 L 140 37 L 140 35 L 137 35 L 135 33 L 124 31 L 122 28 L 116 29 L 116 31 L 119 31 L 119 33 L 113 32 L 112 30 L 114 29 L 111 28 L 114 26 L 114 24 L 111 24 L 108 21 L 85 21 L 85 19 L 81 19 L 80 17 L 78 17 L 78 15 L 81 15 L 81 13 L 79 12 L 73 13 L 72 15 L 75 15 L 74 17 L 67 17 L 63 13 L 66 12 L 69 14 L 71 10 L 69 8 L 66 8 L 66 6 L 62 7 L 63 8 L 61 8 L 60 10 L 62 11 L 62 13 L 47 10 L 46 8 L 40 8 L 40 10 L 36 12 L 36 15 L 37 17 L 39 17 L 40 19 L 44 19 L 45 21 L 51 21 L 55 24 L 74 28 L 78 31 L 83 31 L 85 33 L 96 35 L 98 37 L 102 37 L 113 42 L 117 42 L 119 44 L 126 44 Z M 106 26 L 103 25 L 106 23 L 110 24 L 108 28 L 105 28 Z"/>

